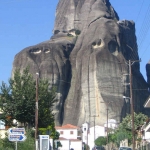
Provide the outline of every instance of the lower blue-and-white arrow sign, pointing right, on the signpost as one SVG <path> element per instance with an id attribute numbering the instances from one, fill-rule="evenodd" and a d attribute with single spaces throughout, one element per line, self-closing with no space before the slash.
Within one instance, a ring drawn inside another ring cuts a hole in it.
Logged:
<path id="1" fill-rule="evenodd" d="M 9 141 L 13 141 L 13 142 L 25 141 L 26 138 L 27 137 L 24 134 L 9 134 L 8 135 Z"/>

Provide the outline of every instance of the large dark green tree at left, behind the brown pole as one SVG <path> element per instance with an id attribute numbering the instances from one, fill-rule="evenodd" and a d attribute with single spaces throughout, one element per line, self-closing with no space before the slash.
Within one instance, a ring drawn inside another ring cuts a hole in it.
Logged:
<path id="1" fill-rule="evenodd" d="M 47 128 L 54 123 L 53 105 L 56 102 L 55 90 L 50 89 L 47 80 L 39 79 L 38 104 L 39 117 L 38 126 Z M 29 73 L 29 68 L 21 71 L 15 70 L 14 77 L 9 80 L 9 85 L 2 82 L 0 86 L 0 107 L 3 114 L 0 119 L 6 125 L 13 126 L 13 119 L 34 126 L 35 121 L 35 98 L 36 82 Z"/>

